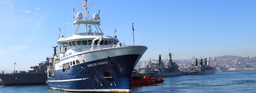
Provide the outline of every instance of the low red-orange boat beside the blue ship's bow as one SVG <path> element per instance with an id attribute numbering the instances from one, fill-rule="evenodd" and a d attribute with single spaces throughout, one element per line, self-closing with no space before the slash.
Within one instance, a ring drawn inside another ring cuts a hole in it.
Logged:
<path id="1" fill-rule="evenodd" d="M 141 73 L 138 70 L 133 70 L 133 74 L 131 75 L 132 85 L 135 84 L 155 84 L 155 83 L 163 83 L 163 78 L 149 78 L 147 76 L 141 77 Z"/>

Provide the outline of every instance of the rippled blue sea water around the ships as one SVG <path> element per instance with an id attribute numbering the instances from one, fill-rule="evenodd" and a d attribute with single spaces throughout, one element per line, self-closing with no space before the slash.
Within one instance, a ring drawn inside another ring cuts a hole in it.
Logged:
<path id="1" fill-rule="evenodd" d="M 256 70 L 226 71 L 209 75 L 184 75 L 166 77 L 161 84 L 139 85 L 132 88 L 133 93 L 256 93 Z M 41 86 L 0 86 L 1 93 L 71 93 L 53 91 L 47 85 Z"/>

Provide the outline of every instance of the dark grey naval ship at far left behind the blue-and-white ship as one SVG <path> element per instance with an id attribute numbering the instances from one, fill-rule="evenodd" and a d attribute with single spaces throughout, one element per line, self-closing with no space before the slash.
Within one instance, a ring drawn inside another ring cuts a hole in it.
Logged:
<path id="1" fill-rule="evenodd" d="M 56 54 L 56 47 L 53 47 L 54 54 Z M 47 66 L 52 65 L 52 63 L 49 62 L 49 57 L 47 57 L 46 60 L 45 62 L 38 63 L 38 66 L 31 66 L 30 68 L 33 70 L 28 70 L 29 72 L 19 71 L 19 73 L 0 74 L 0 78 L 2 78 L 5 85 L 45 84 L 47 80 Z"/>

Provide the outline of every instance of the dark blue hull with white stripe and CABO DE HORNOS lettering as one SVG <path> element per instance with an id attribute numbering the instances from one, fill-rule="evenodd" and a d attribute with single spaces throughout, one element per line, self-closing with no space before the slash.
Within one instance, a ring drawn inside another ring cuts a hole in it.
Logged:
<path id="1" fill-rule="evenodd" d="M 65 91 L 130 91 L 131 74 L 140 58 L 140 54 L 127 54 L 70 66 L 68 71 L 55 70 L 55 77 L 48 78 L 47 84 Z"/>

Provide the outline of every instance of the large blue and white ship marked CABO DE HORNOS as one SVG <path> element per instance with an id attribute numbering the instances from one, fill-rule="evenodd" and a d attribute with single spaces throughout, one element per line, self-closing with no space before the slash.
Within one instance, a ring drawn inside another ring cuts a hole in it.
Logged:
<path id="1" fill-rule="evenodd" d="M 70 37 L 60 35 L 60 50 L 54 65 L 47 69 L 46 82 L 50 88 L 63 91 L 131 92 L 132 71 L 147 47 L 118 45 L 117 36 L 104 35 L 99 27 L 100 11 L 91 16 L 87 10 L 91 6 L 87 0 L 80 3 L 85 10 L 74 16 L 75 32 Z M 86 27 L 85 32 L 78 32 L 80 25 Z"/>

